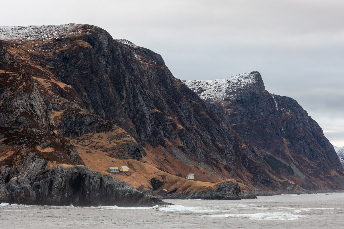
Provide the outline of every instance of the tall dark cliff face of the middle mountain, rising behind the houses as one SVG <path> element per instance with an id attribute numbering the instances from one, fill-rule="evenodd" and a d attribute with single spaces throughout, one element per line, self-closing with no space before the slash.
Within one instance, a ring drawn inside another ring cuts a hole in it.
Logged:
<path id="1" fill-rule="evenodd" d="M 160 147 L 165 157 L 178 154 L 184 161 L 196 160 L 203 170 L 215 173 L 223 170 L 222 161 L 234 161 L 234 146 L 242 148 L 237 134 L 172 76 L 159 54 L 112 40 L 106 31 L 89 25 L 30 27 L 51 33 L 43 37 L 28 29 L 6 28 L 3 34 L 6 39 L 23 34 L 22 49 L 12 53 L 34 73 L 64 137 L 107 132 L 112 122 L 141 146 Z M 23 60 L 25 55 L 30 61 Z M 146 155 L 137 148 L 129 158 Z M 161 166 L 174 173 L 171 167 Z M 226 168 L 234 173 L 231 166 Z"/>

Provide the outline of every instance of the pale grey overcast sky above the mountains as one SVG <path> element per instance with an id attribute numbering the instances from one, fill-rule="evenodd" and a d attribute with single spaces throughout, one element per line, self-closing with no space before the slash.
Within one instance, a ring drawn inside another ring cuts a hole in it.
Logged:
<path id="1" fill-rule="evenodd" d="M 0 26 L 85 23 L 162 55 L 176 78 L 259 71 L 344 146 L 343 0 L 1 2 Z"/>

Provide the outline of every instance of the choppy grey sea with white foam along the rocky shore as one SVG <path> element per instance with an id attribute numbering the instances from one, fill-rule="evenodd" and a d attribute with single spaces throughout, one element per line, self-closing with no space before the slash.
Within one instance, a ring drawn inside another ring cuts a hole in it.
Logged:
<path id="1" fill-rule="evenodd" d="M 344 193 L 122 208 L 0 204 L 0 228 L 344 228 Z"/>

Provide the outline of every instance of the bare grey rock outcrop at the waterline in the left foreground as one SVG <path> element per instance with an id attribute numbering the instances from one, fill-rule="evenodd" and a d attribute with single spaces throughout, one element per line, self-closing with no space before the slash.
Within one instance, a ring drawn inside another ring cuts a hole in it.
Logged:
<path id="1" fill-rule="evenodd" d="M 164 204 L 158 197 L 82 165 L 50 165 L 35 153 L 25 154 L 22 160 L 23 164 L 1 168 L 1 203 L 122 207 Z"/>

